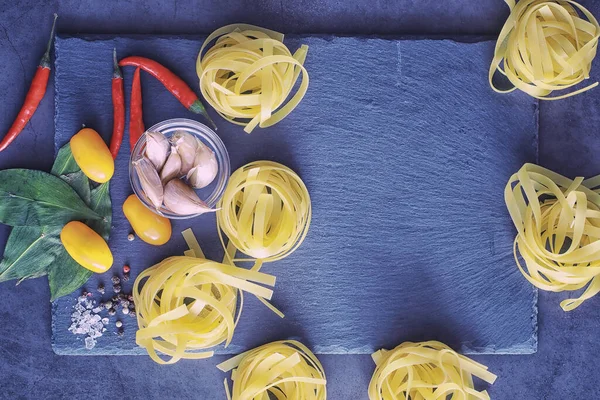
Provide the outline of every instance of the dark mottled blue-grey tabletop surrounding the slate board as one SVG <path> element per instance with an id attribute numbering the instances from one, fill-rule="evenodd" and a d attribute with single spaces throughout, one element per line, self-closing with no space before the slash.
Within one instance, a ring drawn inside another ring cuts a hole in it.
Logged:
<path id="1" fill-rule="evenodd" d="M 45 46 L 50 15 L 61 14 L 67 33 L 206 33 L 244 21 L 285 32 L 342 34 L 496 34 L 507 16 L 502 1 L 23 1 L 0 2 L 0 126 L 18 111 Z M 582 1 L 596 15 L 600 3 Z M 133 22 L 132 22 L 133 21 Z M 597 79 L 598 69 L 593 71 Z M 53 90 L 52 85 L 49 88 Z M 540 163 L 569 175 L 600 173 L 594 154 L 600 143 L 598 89 L 540 105 Z M 0 168 L 48 169 L 53 156 L 53 111 L 46 98 L 23 133 L 21 146 L 0 157 Z M 27 151 L 23 151 L 26 149 Z M 7 229 L 2 228 L 6 235 Z M 4 237 L 4 236 L 3 236 Z M 0 397 L 222 398 L 222 374 L 196 362 L 168 369 L 144 357 L 60 357 L 51 351 L 50 304 L 43 280 L 2 285 L 0 306 Z M 532 356 L 478 356 L 500 376 L 494 399 L 597 398 L 600 299 L 564 313 L 566 295 L 540 293 L 539 350 Z M 44 305 L 45 304 L 45 305 Z M 365 399 L 372 373 L 368 356 L 322 356 L 332 399 Z"/>

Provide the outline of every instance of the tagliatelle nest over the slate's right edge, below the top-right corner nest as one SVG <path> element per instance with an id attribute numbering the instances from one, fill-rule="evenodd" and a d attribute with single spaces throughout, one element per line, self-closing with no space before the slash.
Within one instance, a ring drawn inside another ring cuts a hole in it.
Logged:
<path id="1" fill-rule="evenodd" d="M 517 228 L 515 261 L 534 286 L 579 290 L 563 300 L 573 310 L 600 291 L 600 175 L 569 179 L 525 164 L 510 177 L 506 207 Z M 521 262 L 524 261 L 524 264 Z"/>

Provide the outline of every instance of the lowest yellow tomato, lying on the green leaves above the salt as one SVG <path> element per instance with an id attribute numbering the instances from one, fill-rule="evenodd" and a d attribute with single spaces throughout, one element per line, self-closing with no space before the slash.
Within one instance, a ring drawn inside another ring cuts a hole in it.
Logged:
<path id="1" fill-rule="evenodd" d="M 112 266 L 112 253 L 102 236 L 82 222 L 66 224 L 60 232 L 60 241 L 67 253 L 90 271 L 102 273 Z"/>

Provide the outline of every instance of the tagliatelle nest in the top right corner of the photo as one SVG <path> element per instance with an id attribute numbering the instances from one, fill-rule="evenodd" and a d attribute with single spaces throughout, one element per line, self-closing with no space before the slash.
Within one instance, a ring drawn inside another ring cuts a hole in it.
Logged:
<path id="1" fill-rule="evenodd" d="M 600 37 L 600 26 L 591 12 L 575 1 L 505 1 L 511 12 L 498 37 L 489 71 L 495 91 L 519 89 L 538 99 L 557 100 L 598 85 L 596 82 L 548 97 L 590 77 Z M 499 89 L 492 81 L 496 71 L 514 87 Z"/>

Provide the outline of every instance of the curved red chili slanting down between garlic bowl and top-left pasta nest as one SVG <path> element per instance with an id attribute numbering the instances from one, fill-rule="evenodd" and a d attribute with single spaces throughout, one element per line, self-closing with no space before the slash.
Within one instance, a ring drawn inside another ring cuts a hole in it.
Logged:
<path id="1" fill-rule="evenodd" d="M 190 87 L 169 69 L 154 60 L 144 57 L 126 57 L 119 62 L 120 66 L 133 66 L 143 69 L 158 79 L 188 110 L 202 114 L 210 122 L 213 129 L 217 126 L 210 118 L 198 96 Z"/>

